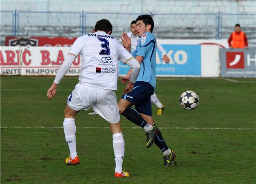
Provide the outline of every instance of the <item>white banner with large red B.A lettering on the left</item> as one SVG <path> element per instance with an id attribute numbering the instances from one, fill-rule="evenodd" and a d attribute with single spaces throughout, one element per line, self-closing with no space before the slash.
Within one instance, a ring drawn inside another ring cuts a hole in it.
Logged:
<path id="1" fill-rule="evenodd" d="M 55 76 L 70 47 L 1 47 L 0 74 L 22 76 Z M 79 76 L 80 55 L 75 58 L 67 76 Z"/>

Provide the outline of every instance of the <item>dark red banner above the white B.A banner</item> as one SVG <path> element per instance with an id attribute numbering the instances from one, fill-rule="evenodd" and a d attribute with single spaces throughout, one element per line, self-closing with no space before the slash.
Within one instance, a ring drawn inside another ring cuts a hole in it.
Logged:
<path id="1" fill-rule="evenodd" d="M 5 46 L 71 47 L 76 38 L 7 36 Z"/>

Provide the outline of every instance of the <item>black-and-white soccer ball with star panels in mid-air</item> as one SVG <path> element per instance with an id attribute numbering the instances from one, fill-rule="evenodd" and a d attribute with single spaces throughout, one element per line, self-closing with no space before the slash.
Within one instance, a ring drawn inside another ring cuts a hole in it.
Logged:
<path id="1" fill-rule="evenodd" d="M 194 91 L 185 91 L 179 101 L 182 108 L 191 111 L 199 104 L 199 96 Z"/>

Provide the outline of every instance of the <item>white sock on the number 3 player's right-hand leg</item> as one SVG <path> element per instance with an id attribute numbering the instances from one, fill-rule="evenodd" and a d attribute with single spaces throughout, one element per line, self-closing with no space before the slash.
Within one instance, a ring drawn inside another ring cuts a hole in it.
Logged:
<path id="1" fill-rule="evenodd" d="M 123 133 L 113 134 L 113 148 L 114 148 L 115 162 L 116 162 L 115 172 L 122 173 L 122 164 L 123 164 L 123 158 L 124 158 Z"/>

